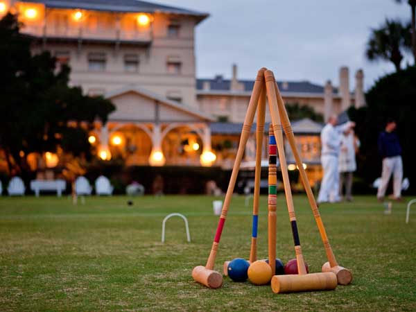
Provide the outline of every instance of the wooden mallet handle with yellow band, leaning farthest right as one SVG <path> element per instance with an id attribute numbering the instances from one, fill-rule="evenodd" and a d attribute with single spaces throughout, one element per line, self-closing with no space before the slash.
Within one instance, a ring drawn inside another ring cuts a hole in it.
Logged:
<path id="1" fill-rule="evenodd" d="M 315 202 L 315 197 L 313 196 L 311 184 L 309 184 L 308 177 L 306 175 L 306 171 L 303 167 L 302 159 L 300 158 L 299 151 L 297 150 L 296 141 L 295 141 L 295 135 L 293 135 L 293 129 L 291 126 L 291 122 L 288 118 L 288 113 L 286 112 L 286 108 L 284 107 L 284 101 L 283 98 L 281 98 L 281 94 L 279 92 L 279 87 L 277 87 L 277 84 L 275 83 L 275 92 L 277 95 L 277 105 L 279 108 L 279 114 L 281 117 L 281 123 L 283 125 L 284 133 L 289 141 L 289 144 L 291 145 L 291 149 L 293 152 L 293 156 L 295 157 L 295 161 L 297 164 L 297 168 L 299 169 L 300 177 L 302 180 L 302 184 L 304 186 L 304 189 L 306 191 L 306 196 L 308 196 L 309 205 L 311 206 L 313 216 L 315 217 L 316 225 L 318 225 L 318 229 L 320 232 L 320 236 L 322 239 L 322 243 L 324 243 L 325 252 L 327 253 L 327 258 L 329 261 L 329 264 L 331 267 L 338 266 L 338 263 L 335 259 L 335 255 L 333 254 L 331 245 L 329 244 L 327 232 L 324 228 L 324 223 L 322 222 L 322 218 L 320 216 L 318 206 Z"/>

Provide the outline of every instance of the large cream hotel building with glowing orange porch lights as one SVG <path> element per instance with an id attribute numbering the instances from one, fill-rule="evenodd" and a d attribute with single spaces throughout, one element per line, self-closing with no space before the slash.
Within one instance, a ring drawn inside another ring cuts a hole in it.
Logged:
<path id="1" fill-rule="evenodd" d="M 97 157 L 126 166 L 231 168 L 254 81 L 240 80 L 235 64 L 229 80 L 196 77 L 195 29 L 207 13 L 136 0 L 0 0 L 0 15 L 8 10 L 33 37 L 33 53 L 51 51 L 71 67 L 71 85 L 116 106 L 90 135 Z M 338 87 L 278 83 L 286 103 L 308 105 L 326 119 L 365 105 L 363 71 L 355 73 L 353 92 L 347 67 L 339 77 Z M 322 125 L 293 125 L 306 164 L 317 165 Z"/>

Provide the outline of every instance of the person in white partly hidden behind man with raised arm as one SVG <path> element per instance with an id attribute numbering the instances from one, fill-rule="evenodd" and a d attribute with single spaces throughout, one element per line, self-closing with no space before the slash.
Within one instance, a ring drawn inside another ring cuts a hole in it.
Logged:
<path id="1" fill-rule="evenodd" d="M 340 198 L 343 198 L 345 185 L 345 200 L 352 201 L 352 176 L 356 171 L 356 153 L 360 147 L 360 141 L 354 135 L 351 128 L 341 136 L 341 148 L 338 158 L 338 171 L 340 174 Z"/>

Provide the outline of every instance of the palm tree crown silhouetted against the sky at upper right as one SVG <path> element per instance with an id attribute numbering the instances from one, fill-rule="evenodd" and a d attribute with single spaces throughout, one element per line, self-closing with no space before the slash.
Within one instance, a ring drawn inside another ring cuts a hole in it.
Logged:
<path id="1" fill-rule="evenodd" d="M 385 19 L 385 24 L 380 28 L 372 29 L 365 51 L 367 59 L 389 60 L 395 64 L 396 71 L 399 71 L 403 60 L 402 51 L 409 49 L 410 46 L 409 28 L 410 26 L 402 25 L 401 21 Z"/>

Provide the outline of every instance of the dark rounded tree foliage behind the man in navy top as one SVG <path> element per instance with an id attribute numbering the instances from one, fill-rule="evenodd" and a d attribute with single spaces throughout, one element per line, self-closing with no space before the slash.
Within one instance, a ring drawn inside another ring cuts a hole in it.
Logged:
<path id="1" fill-rule="evenodd" d="M 367 106 L 349 109 L 356 122 L 356 133 L 361 140 L 358 155 L 358 176 L 369 184 L 381 175 L 381 157 L 377 151 L 377 138 L 388 118 L 396 119 L 397 135 L 403 148 L 404 177 L 410 188 L 416 190 L 416 67 L 408 67 L 379 79 L 366 94 Z"/>

